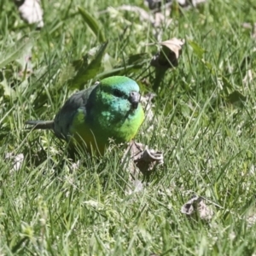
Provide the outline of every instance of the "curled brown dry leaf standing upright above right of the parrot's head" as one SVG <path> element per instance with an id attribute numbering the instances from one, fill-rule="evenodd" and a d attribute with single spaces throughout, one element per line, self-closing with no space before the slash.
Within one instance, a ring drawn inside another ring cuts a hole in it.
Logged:
<path id="1" fill-rule="evenodd" d="M 172 38 L 158 43 L 158 45 L 161 46 L 161 49 L 153 56 L 150 65 L 166 69 L 177 67 L 177 59 L 182 54 L 183 44 L 185 44 L 185 40 L 178 38 Z"/>

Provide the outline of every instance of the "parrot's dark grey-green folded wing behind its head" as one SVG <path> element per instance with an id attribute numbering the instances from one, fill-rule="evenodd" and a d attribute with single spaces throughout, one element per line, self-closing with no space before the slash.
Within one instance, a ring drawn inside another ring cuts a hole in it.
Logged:
<path id="1" fill-rule="evenodd" d="M 79 109 L 84 111 L 86 116 L 86 105 L 89 101 L 91 92 L 96 88 L 97 84 L 91 86 L 89 89 L 80 90 L 71 96 L 59 113 L 56 114 L 54 120 L 54 131 L 57 137 L 67 140 L 69 135 L 69 128 L 73 124 L 73 118 Z"/>

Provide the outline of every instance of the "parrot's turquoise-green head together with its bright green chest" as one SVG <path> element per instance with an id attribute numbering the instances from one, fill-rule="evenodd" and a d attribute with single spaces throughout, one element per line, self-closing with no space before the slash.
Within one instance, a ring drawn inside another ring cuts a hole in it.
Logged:
<path id="1" fill-rule="evenodd" d="M 140 99 L 139 86 L 132 79 L 113 76 L 96 84 L 87 110 L 98 143 L 105 145 L 109 137 L 126 143 L 136 136 L 145 118 Z"/>

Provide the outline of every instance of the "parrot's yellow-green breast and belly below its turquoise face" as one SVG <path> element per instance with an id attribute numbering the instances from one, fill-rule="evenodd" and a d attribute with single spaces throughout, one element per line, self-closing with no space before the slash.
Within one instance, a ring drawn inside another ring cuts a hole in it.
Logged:
<path id="1" fill-rule="evenodd" d="M 78 110 L 73 117 L 70 134 L 75 142 L 84 145 L 87 150 L 93 148 L 103 154 L 110 138 L 115 143 L 130 142 L 136 136 L 143 119 L 141 105 L 127 116 L 114 116 L 111 112 L 102 111 L 93 113 L 93 118 L 90 118 L 84 115 L 83 110 Z"/>

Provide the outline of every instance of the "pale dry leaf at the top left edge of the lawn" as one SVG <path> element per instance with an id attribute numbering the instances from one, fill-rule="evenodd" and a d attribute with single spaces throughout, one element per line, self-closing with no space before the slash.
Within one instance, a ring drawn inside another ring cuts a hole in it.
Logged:
<path id="1" fill-rule="evenodd" d="M 38 28 L 44 26 L 43 9 L 40 0 L 15 0 L 22 20 L 28 24 L 37 24 Z"/>

